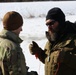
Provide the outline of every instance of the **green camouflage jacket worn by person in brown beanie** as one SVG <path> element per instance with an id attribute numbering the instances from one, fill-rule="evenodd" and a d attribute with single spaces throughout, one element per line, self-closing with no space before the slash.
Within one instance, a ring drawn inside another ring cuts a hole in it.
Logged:
<path id="1" fill-rule="evenodd" d="M 20 47 L 22 40 L 13 32 L 0 33 L 0 69 L 3 75 L 27 75 L 24 54 Z"/>

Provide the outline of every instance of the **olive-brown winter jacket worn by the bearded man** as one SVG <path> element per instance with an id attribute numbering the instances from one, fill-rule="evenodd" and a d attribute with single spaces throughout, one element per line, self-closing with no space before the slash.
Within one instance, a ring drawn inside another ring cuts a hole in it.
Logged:
<path id="1" fill-rule="evenodd" d="M 58 61 L 63 51 L 62 62 Z M 45 64 L 45 75 L 76 75 L 76 31 L 74 24 L 66 22 L 61 37 L 52 44 L 48 41 L 38 58 Z"/>

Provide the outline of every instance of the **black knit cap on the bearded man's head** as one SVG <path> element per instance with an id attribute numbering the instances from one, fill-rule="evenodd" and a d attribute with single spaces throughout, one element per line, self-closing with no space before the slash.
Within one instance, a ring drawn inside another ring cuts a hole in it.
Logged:
<path id="1" fill-rule="evenodd" d="M 48 19 L 53 19 L 55 21 L 58 21 L 59 23 L 63 23 L 65 22 L 65 15 L 60 8 L 54 7 L 48 11 L 46 20 Z"/>

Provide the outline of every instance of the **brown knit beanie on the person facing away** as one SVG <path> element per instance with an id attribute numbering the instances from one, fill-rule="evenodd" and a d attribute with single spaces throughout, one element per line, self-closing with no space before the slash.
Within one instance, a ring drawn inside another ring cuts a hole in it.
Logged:
<path id="1" fill-rule="evenodd" d="M 3 17 L 3 27 L 6 30 L 16 30 L 23 25 L 22 16 L 15 11 L 7 12 Z"/>

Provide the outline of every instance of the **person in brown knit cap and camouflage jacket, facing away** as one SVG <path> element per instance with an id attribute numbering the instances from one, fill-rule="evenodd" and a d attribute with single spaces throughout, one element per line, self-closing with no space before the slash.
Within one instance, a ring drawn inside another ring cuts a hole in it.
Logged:
<path id="1" fill-rule="evenodd" d="M 19 37 L 23 18 L 15 11 L 7 12 L 3 17 L 3 30 L 0 32 L 0 75 L 38 75 L 28 72 Z"/>

